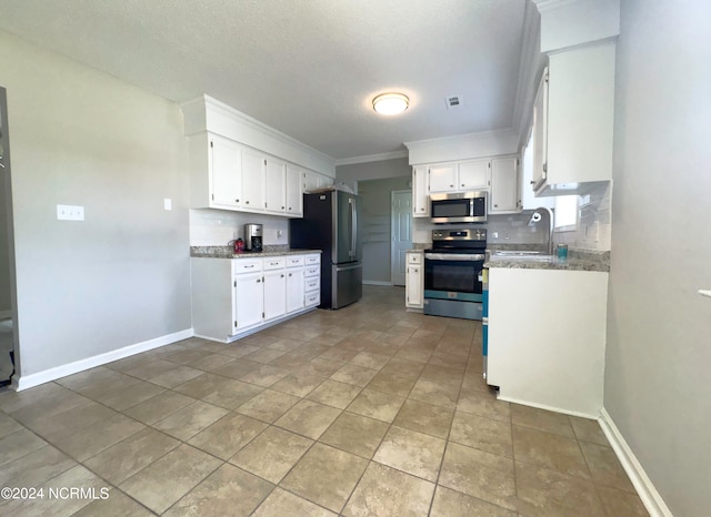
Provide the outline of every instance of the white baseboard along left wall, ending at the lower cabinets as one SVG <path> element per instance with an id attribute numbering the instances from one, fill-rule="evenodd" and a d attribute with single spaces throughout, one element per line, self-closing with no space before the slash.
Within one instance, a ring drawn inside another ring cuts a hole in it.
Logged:
<path id="1" fill-rule="evenodd" d="M 56 366 L 36 374 L 20 375 L 12 378 L 12 387 L 20 392 L 22 389 L 39 386 L 40 384 L 49 383 L 50 381 L 56 381 L 68 375 L 73 375 L 79 372 L 83 372 L 84 369 L 96 368 L 97 366 L 122 359 L 134 354 L 140 354 L 141 352 L 148 352 L 160 346 L 187 339 L 188 337 L 192 337 L 193 334 L 192 328 L 186 328 L 184 331 L 156 337 L 154 339 L 144 341 L 134 345 L 128 345 L 123 348 L 118 348 L 104 354 L 87 357 L 86 359 Z"/>

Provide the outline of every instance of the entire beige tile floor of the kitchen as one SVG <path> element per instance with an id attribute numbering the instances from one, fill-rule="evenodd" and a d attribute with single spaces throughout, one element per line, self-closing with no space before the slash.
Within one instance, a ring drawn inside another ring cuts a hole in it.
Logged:
<path id="1" fill-rule="evenodd" d="M 479 323 L 365 286 L 232 345 L 0 393 L 0 487 L 44 489 L 0 514 L 647 515 L 599 425 L 497 401 L 480 347 Z"/>

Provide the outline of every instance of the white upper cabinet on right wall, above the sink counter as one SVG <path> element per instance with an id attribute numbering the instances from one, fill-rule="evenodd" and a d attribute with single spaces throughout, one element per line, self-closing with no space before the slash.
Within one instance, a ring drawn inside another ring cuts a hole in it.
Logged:
<path id="1" fill-rule="evenodd" d="M 537 195 L 583 194 L 612 179 L 614 48 L 605 41 L 550 55 L 537 103 L 535 123 L 545 121 L 534 133 Z"/>

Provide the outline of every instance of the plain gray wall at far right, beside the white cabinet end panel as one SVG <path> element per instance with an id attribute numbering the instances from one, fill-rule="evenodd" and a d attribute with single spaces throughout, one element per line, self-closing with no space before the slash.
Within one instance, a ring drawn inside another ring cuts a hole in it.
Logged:
<path id="1" fill-rule="evenodd" d="M 711 6 L 621 18 L 604 406 L 673 515 L 708 515 Z"/>

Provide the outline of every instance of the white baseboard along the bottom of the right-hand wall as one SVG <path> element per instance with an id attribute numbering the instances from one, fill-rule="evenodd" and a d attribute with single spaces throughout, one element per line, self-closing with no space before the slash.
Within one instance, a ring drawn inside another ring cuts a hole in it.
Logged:
<path id="1" fill-rule="evenodd" d="M 649 511 L 650 517 L 673 517 L 671 510 L 664 504 L 662 496 L 657 491 L 652 480 L 642 468 L 642 465 L 637 459 L 637 456 L 634 456 L 634 453 L 627 444 L 620 429 L 614 425 L 612 417 L 604 407 L 600 412 L 600 419 L 598 422 L 600 423 L 600 427 L 602 427 L 602 432 L 608 437 L 608 442 L 610 442 L 614 454 L 620 459 L 622 468 L 624 468 L 640 499 L 642 499 L 642 504 L 647 508 L 647 511 Z"/>

